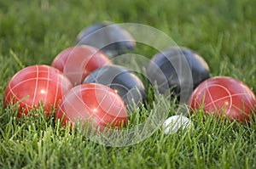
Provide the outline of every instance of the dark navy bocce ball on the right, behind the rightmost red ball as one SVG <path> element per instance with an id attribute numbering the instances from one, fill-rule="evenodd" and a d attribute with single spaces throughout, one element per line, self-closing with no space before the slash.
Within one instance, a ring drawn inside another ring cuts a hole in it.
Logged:
<path id="1" fill-rule="evenodd" d="M 209 78 L 210 70 L 207 62 L 192 50 L 167 48 L 151 59 L 147 75 L 151 83 L 156 82 L 160 93 L 166 93 L 170 88 L 174 93 L 180 93 L 181 87 L 189 86 L 192 86 L 192 93 L 195 87 Z"/>

